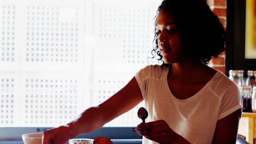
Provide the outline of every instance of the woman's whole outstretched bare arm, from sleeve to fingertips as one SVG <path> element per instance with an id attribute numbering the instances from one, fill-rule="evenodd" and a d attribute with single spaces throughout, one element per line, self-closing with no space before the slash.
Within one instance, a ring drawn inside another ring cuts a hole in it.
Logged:
<path id="1" fill-rule="evenodd" d="M 69 139 L 101 128 L 104 124 L 131 110 L 143 100 L 133 77 L 127 85 L 102 104 L 85 110 L 67 125 L 44 131 L 43 143 L 66 143 Z"/>

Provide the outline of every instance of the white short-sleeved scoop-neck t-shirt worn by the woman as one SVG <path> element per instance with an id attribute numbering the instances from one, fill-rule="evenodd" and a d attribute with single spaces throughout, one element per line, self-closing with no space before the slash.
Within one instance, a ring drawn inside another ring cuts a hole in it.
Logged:
<path id="1" fill-rule="evenodd" d="M 164 119 L 190 143 L 212 143 L 217 121 L 242 109 L 238 86 L 217 71 L 193 97 L 179 100 L 168 87 L 169 69 L 170 65 L 148 65 L 135 75 L 149 113 L 146 122 Z M 143 136 L 143 143 L 156 142 Z"/>

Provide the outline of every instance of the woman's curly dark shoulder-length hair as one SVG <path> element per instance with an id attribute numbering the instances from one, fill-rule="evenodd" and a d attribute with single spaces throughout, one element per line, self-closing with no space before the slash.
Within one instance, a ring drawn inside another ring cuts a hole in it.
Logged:
<path id="1" fill-rule="evenodd" d="M 200 60 L 207 64 L 212 57 L 218 57 L 225 51 L 226 33 L 218 17 L 212 12 L 203 0 L 164 0 L 159 6 L 156 20 L 160 10 L 170 11 L 178 22 L 181 31 L 183 55 L 190 56 L 195 61 Z M 162 55 L 158 47 L 158 32 L 154 30 L 153 58 L 158 55 L 162 61 Z"/>

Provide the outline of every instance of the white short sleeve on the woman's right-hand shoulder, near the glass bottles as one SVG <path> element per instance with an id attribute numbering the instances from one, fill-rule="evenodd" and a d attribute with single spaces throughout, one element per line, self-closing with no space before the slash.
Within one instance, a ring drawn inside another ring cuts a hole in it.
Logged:
<path id="1" fill-rule="evenodd" d="M 242 97 L 238 86 L 234 83 L 234 85 L 230 85 L 228 89 L 226 89 L 222 97 L 218 120 L 230 115 L 238 109 L 242 111 Z"/>

